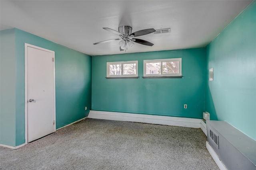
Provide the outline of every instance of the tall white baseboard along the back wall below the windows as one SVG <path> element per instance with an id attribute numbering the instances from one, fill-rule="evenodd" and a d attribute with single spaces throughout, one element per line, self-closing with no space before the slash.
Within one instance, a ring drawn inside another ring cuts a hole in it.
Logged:
<path id="1" fill-rule="evenodd" d="M 88 118 L 200 128 L 201 119 L 91 110 Z"/>

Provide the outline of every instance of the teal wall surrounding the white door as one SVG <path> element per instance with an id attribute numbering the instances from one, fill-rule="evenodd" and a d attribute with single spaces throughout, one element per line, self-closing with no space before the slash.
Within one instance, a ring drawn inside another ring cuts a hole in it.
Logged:
<path id="1" fill-rule="evenodd" d="M 25 46 L 24 43 L 36 45 L 55 51 L 56 84 L 56 128 L 63 127 L 86 117 L 91 106 L 91 56 L 58 45 L 20 29 L 15 31 L 15 78 L 14 108 L 15 146 L 25 143 Z M 2 36 L 1 36 L 2 39 Z M 1 64 L 4 64 L 1 62 Z M 2 100 L 1 100 L 2 103 Z M 88 107 L 85 110 L 85 106 Z M 8 130 L 9 131 L 9 130 Z"/>

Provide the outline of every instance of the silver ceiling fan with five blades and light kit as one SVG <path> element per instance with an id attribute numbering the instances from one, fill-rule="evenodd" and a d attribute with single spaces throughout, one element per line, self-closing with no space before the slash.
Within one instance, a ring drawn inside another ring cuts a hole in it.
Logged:
<path id="1" fill-rule="evenodd" d="M 154 28 L 150 28 L 150 29 L 142 29 L 140 31 L 136 31 L 134 33 L 132 33 L 132 27 L 127 26 L 127 25 L 123 25 L 118 27 L 118 31 L 114 30 L 114 29 L 110 29 L 110 28 L 103 28 L 107 31 L 110 31 L 111 33 L 114 33 L 116 35 L 119 35 L 121 38 L 117 38 L 117 39 L 109 39 L 109 40 L 105 40 L 105 41 L 100 41 L 98 43 L 94 43 L 95 44 L 101 44 L 101 43 L 107 43 L 110 41 L 116 41 L 116 40 L 120 40 L 119 42 L 119 49 L 120 51 L 126 51 L 127 50 L 127 46 L 132 47 L 135 43 L 139 43 L 142 45 L 148 45 L 148 46 L 153 46 L 153 43 L 150 43 L 148 41 L 145 41 L 143 39 L 138 39 L 138 38 L 134 38 L 134 37 L 138 37 L 141 35 L 146 35 L 146 34 L 150 34 L 155 32 L 156 30 Z"/>

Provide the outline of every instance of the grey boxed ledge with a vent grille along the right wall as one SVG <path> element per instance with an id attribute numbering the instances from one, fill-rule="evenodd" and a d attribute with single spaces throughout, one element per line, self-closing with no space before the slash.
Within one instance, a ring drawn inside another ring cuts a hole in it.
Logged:
<path id="1" fill-rule="evenodd" d="M 207 141 L 228 170 L 256 170 L 256 141 L 226 121 L 206 121 Z"/>

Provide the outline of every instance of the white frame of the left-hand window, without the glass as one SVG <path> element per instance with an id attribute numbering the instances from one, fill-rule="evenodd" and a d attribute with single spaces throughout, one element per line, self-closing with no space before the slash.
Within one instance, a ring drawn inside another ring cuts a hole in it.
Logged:
<path id="1" fill-rule="evenodd" d="M 136 74 L 123 74 L 123 65 L 124 64 L 134 64 L 136 63 Z M 109 65 L 110 64 L 121 64 L 121 75 L 109 75 Z M 117 62 L 107 62 L 107 78 L 111 77 L 138 77 L 138 61 L 117 61 Z"/>

